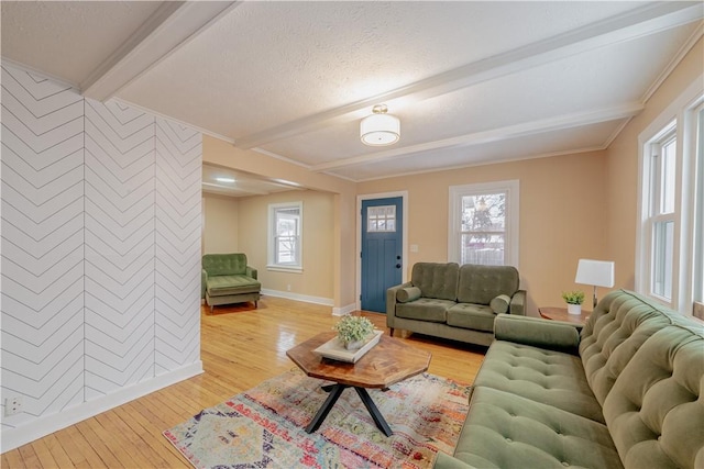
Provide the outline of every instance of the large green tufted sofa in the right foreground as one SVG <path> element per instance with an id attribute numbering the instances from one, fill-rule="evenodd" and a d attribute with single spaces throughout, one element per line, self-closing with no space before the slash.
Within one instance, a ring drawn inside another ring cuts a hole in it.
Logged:
<path id="1" fill-rule="evenodd" d="M 447 468 L 704 468 L 704 325 L 626 290 L 574 325 L 501 315 Z"/>

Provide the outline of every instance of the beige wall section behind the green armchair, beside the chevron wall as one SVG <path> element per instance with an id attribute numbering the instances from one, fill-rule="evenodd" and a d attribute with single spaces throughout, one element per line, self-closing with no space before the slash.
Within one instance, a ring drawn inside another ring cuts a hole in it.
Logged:
<path id="1" fill-rule="evenodd" d="M 238 199 L 204 193 L 202 254 L 239 253 Z"/>

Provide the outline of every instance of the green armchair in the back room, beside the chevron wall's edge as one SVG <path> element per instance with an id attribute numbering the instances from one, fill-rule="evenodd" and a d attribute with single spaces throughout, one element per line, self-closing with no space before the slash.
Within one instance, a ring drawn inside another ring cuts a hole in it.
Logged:
<path id="1" fill-rule="evenodd" d="M 202 256 L 201 298 L 210 312 L 219 304 L 253 301 L 257 308 L 262 283 L 256 269 L 246 265 L 246 255 L 206 254 Z"/>

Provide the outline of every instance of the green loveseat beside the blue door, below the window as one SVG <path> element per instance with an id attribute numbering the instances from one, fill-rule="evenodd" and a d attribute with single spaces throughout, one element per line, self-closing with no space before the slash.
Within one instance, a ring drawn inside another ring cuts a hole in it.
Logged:
<path id="1" fill-rule="evenodd" d="M 417 263 L 410 281 L 386 290 L 386 325 L 477 345 L 494 340 L 496 314 L 526 314 L 510 266 Z"/>

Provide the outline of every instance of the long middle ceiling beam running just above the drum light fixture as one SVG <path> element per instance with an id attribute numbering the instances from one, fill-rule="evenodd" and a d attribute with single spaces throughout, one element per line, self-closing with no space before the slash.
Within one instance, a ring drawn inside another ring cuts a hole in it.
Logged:
<path id="1" fill-rule="evenodd" d="M 411 94 L 418 99 L 440 96 L 608 44 L 630 41 L 691 23 L 701 20 L 702 15 L 702 7 L 698 2 L 648 4 L 384 93 L 235 138 L 234 146 L 243 149 L 262 146 L 270 142 L 319 129 L 321 125 L 350 120 L 352 113 L 358 113 L 364 108 L 371 110 L 374 104 L 381 102 L 388 103 L 394 99 Z"/>

